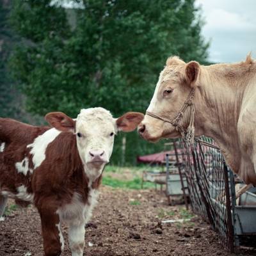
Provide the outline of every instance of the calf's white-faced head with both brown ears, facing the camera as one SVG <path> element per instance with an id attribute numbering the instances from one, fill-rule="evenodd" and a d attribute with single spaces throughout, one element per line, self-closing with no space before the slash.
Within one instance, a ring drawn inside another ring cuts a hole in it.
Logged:
<path id="1" fill-rule="evenodd" d="M 81 109 L 76 120 L 61 112 L 48 113 L 45 119 L 60 131 L 76 134 L 77 149 L 89 177 L 99 177 L 104 165 L 109 162 L 115 134 L 118 131 L 134 131 L 143 114 L 128 112 L 113 118 L 104 108 Z"/>

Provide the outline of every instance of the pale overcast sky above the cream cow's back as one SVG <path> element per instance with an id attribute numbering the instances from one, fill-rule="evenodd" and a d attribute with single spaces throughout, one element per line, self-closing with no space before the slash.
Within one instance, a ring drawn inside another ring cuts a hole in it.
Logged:
<path id="1" fill-rule="evenodd" d="M 206 22 L 202 29 L 211 40 L 209 60 L 234 62 L 248 52 L 256 58 L 256 0 L 196 0 Z"/>

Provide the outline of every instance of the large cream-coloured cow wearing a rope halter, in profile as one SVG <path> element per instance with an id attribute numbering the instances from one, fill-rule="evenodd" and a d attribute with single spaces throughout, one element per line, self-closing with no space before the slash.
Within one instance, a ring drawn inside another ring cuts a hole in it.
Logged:
<path id="1" fill-rule="evenodd" d="M 256 185 L 256 62 L 203 66 L 168 58 L 138 128 L 148 141 L 209 136 L 232 170 Z"/>

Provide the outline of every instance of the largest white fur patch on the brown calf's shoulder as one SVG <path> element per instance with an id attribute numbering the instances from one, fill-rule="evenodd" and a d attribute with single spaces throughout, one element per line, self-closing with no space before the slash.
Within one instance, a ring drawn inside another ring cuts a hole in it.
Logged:
<path id="1" fill-rule="evenodd" d="M 34 168 L 37 168 L 42 164 L 45 159 L 45 151 L 49 143 L 55 140 L 55 138 L 60 134 L 55 128 L 49 129 L 42 135 L 35 138 L 35 141 L 29 144 L 27 147 L 31 148 L 30 153 L 33 155 Z"/>

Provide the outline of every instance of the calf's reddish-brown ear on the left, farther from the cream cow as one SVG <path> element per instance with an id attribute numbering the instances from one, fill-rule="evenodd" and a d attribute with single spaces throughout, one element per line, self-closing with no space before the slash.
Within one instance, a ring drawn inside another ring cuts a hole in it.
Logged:
<path id="1" fill-rule="evenodd" d="M 52 125 L 52 127 L 63 132 L 74 132 L 76 122 L 62 112 L 51 112 L 45 115 L 45 120 Z"/>

